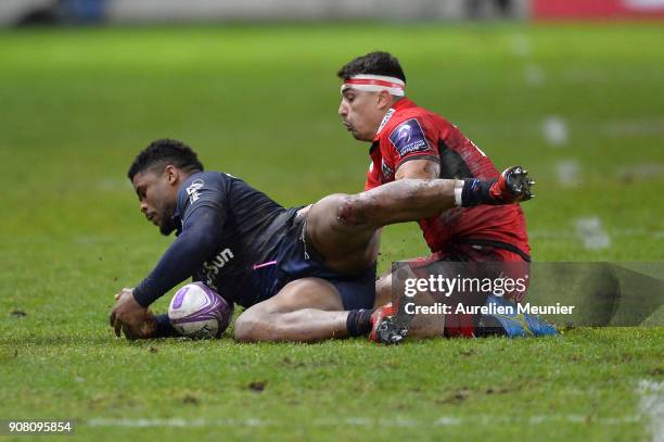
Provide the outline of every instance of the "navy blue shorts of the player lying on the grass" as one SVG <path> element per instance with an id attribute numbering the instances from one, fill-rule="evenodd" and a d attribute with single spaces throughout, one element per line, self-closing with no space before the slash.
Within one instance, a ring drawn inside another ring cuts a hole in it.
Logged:
<path id="1" fill-rule="evenodd" d="M 280 223 L 286 231 L 269 263 L 256 271 L 260 295 L 256 302 L 276 295 L 286 283 L 302 278 L 321 278 L 331 282 L 341 295 L 344 310 L 372 308 L 375 300 L 375 263 L 359 275 L 331 269 L 303 235 L 306 218 L 297 216 L 301 207 L 289 209 Z"/>

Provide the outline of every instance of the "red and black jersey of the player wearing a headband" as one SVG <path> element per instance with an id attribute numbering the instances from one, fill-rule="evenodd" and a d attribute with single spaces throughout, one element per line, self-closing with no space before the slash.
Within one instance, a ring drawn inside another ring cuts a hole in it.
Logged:
<path id="1" fill-rule="evenodd" d="M 365 190 L 394 181 L 398 167 L 410 160 L 438 162 L 440 178 L 489 179 L 499 175 L 489 157 L 457 126 L 406 98 L 385 114 L 369 152 L 371 165 Z M 434 253 L 473 240 L 508 244 L 523 255 L 531 253 L 518 204 L 457 207 L 419 224 Z"/>

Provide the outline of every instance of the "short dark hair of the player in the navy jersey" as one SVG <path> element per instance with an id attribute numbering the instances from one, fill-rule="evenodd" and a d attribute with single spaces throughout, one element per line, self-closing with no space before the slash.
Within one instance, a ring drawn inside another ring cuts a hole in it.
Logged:
<path id="1" fill-rule="evenodd" d="M 167 165 L 174 165 L 188 172 L 203 171 L 203 164 L 189 146 L 178 140 L 161 139 L 152 141 L 138 154 L 127 176 L 133 180 L 133 176 L 138 173 L 148 169 L 163 169 Z"/>

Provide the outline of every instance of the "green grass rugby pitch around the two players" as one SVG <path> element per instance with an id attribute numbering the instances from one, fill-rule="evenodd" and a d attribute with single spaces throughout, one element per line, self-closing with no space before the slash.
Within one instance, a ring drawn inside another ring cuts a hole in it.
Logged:
<path id="1" fill-rule="evenodd" d="M 0 419 L 75 419 L 81 440 L 648 440 L 639 386 L 664 380 L 662 328 L 381 348 L 128 343 L 106 320 L 170 241 L 138 212 L 133 155 L 180 138 L 284 205 L 358 191 L 367 147 L 339 123 L 334 74 L 374 49 L 499 168 L 532 171 L 535 260 L 662 261 L 663 38 L 661 25 L 1 31 Z M 608 247 L 584 247 L 579 218 Z M 381 269 L 425 252 L 417 226 L 392 227 Z"/>

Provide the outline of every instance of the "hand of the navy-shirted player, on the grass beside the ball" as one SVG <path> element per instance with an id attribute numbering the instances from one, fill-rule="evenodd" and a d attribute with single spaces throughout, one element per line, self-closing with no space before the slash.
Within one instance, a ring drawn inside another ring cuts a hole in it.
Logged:
<path id="1" fill-rule="evenodd" d="M 156 332 L 156 319 L 152 312 L 140 305 L 133 298 L 131 289 L 123 289 L 115 295 L 116 303 L 108 321 L 115 329 L 115 336 L 124 332 L 129 340 L 148 339 Z"/>

